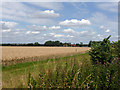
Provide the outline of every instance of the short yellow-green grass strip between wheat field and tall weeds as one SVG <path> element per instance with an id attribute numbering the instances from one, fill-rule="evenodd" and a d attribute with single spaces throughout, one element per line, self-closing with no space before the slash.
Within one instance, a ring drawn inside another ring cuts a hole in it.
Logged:
<path id="1" fill-rule="evenodd" d="M 89 62 L 90 61 L 89 58 L 90 58 L 89 55 L 86 53 L 86 54 L 67 56 L 63 58 L 54 57 L 53 59 L 19 63 L 10 66 L 3 66 L 2 85 L 3 88 L 27 88 L 28 76 L 29 76 L 28 73 L 31 73 L 31 76 L 33 76 L 33 78 L 37 80 L 40 72 L 44 76 L 44 74 L 47 74 L 48 71 L 49 72 L 55 71 L 56 69 L 61 67 L 65 68 L 66 64 L 67 67 L 70 69 L 70 67 L 72 68 L 71 66 L 72 64 L 70 63 L 73 63 L 74 60 L 80 62 L 78 64 L 81 65 L 82 63 L 84 63 L 84 59 L 86 59 Z"/>

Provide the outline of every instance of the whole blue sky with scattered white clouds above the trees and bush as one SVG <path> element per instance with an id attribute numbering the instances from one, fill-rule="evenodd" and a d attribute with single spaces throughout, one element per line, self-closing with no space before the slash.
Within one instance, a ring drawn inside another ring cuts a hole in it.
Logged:
<path id="1" fill-rule="evenodd" d="M 3 2 L 3 43 L 118 40 L 117 2 Z"/>

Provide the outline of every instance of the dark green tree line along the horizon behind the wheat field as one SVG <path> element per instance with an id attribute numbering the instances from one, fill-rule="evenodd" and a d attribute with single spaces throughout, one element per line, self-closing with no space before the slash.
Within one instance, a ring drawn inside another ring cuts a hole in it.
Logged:
<path id="1" fill-rule="evenodd" d="M 80 43 L 62 43 L 60 41 L 46 41 L 44 44 L 35 43 L 2 43 L 0 46 L 63 46 L 63 47 L 91 47 L 92 43 L 100 43 L 101 41 L 89 41 L 88 44 Z"/>

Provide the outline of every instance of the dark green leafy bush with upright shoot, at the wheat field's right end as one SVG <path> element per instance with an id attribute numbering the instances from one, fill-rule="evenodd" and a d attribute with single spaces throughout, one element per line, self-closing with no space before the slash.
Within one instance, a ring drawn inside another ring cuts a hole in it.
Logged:
<path id="1" fill-rule="evenodd" d="M 104 64 L 107 62 L 111 63 L 111 61 L 113 60 L 111 44 L 108 40 L 110 37 L 111 36 L 105 38 L 100 43 L 92 43 L 89 55 L 91 56 L 93 64 Z"/>

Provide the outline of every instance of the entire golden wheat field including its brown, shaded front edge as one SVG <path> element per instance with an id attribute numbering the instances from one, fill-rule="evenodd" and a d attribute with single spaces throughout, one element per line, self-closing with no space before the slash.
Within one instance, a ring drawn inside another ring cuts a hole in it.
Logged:
<path id="1" fill-rule="evenodd" d="M 89 47 L 2 47 L 3 65 L 84 53 Z"/>

